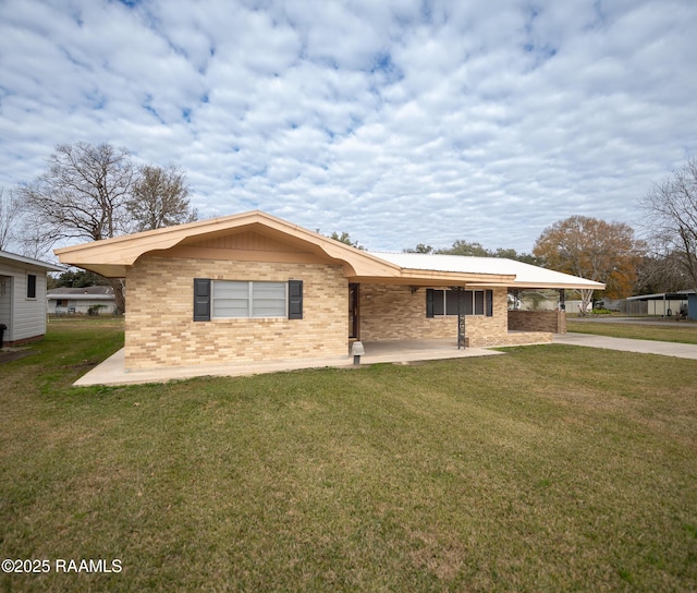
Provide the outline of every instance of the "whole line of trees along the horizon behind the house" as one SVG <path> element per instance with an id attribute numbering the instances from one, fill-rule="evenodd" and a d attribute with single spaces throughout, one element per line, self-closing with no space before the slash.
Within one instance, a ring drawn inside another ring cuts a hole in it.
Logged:
<path id="1" fill-rule="evenodd" d="M 194 221 L 198 213 L 189 192 L 185 172 L 174 165 L 136 165 L 127 149 L 110 144 L 58 145 L 34 181 L 9 192 L 0 187 L 0 250 L 16 244 L 24 255 L 38 257 L 66 239 L 99 241 Z M 546 228 L 531 253 L 466 240 L 404 251 L 517 259 L 604 282 L 612 299 L 697 291 L 697 158 L 655 182 L 639 205 L 646 239 L 623 222 L 572 216 Z M 365 249 L 345 231 L 330 237 Z M 109 283 L 123 311 L 123 281 Z"/>

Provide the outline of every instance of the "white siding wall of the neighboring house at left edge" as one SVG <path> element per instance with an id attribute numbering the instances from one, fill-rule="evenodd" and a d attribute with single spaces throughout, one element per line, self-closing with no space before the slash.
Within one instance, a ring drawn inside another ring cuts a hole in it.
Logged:
<path id="1" fill-rule="evenodd" d="M 36 276 L 36 299 L 27 299 L 27 275 Z M 28 264 L 3 261 L 0 263 L 0 276 L 12 276 L 11 304 L 5 304 L 8 294 L 2 299 L 2 306 L 10 307 L 4 341 L 16 341 L 42 336 L 46 334 L 46 269 Z M 10 282 L 8 282 L 10 285 Z M 7 286 L 7 292 L 10 287 Z"/>

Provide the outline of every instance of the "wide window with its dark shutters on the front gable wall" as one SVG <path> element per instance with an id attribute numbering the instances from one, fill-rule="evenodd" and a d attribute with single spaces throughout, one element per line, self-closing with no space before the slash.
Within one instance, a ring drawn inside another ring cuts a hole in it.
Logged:
<path id="1" fill-rule="evenodd" d="M 303 281 L 261 282 L 194 278 L 194 320 L 303 318 Z"/>

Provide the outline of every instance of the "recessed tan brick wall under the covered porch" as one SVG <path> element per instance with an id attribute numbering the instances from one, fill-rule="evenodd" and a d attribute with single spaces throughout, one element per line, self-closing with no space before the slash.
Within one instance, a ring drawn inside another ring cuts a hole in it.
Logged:
<path id="1" fill-rule="evenodd" d="M 452 338 L 457 341 L 457 316 L 426 316 L 426 289 L 407 286 L 360 285 L 360 339 L 363 341 Z M 549 342 L 551 335 L 509 334 L 508 290 L 493 289 L 493 315 L 468 315 L 468 346 L 515 346 Z"/>

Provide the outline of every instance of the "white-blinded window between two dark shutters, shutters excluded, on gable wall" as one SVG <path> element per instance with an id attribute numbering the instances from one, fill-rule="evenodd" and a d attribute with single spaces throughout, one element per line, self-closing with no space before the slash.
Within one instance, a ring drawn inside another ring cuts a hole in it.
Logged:
<path id="1" fill-rule="evenodd" d="M 285 317 L 288 282 L 213 280 L 212 316 Z"/>

